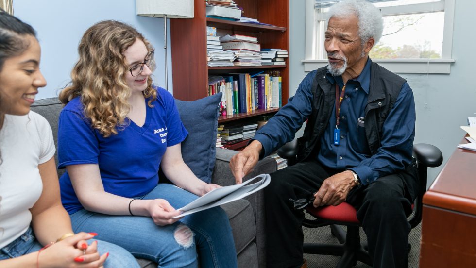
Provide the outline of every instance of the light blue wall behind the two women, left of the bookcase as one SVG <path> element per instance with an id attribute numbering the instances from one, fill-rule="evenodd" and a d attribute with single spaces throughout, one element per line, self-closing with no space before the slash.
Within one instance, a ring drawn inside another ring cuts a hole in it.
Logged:
<path id="1" fill-rule="evenodd" d="M 15 16 L 37 31 L 42 48 L 40 67 L 48 85 L 39 90 L 37 99 L 57 96 L 69 82 L 83 33 L 105 19 L 132 24 L 153 44 L 157 62 L 154 83 L 165 86 L 164 19 L 137 16 L 135 0 L 13 0 L 13 8 Z M 170 50 L 168 77 L 171 91 Z"/>

